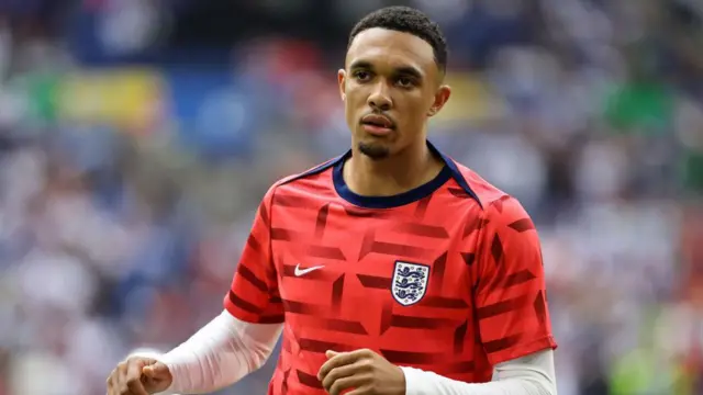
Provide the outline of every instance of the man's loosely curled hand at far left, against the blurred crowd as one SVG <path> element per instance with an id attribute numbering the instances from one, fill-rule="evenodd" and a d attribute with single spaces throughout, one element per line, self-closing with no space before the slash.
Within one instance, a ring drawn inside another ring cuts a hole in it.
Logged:
<path id="1" fill-rule="evenodd" d="M 143 357 L 120 362 L 108 377 L 108 395 L 148 395 L 166 391 L 174 381 L 164 363 Z"/>

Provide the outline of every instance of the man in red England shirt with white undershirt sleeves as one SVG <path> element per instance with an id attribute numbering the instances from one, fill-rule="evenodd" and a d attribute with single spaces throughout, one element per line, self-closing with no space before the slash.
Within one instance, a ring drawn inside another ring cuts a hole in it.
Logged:
<path id="1" fill-rule="evenodd" d="M 109 394 L 221 388 L 281 331 L 269 395 L 555 394 L 532 221 L 426 140 L 446 63 L 422 12 L 364 18 L 338 72 L 352 149 L 267 192 L 224 312 L 160 361 L 122 362 Z"/>

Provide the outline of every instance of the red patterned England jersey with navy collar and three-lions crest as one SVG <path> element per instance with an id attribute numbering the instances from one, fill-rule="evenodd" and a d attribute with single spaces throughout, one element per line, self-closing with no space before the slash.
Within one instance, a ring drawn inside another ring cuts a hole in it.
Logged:
<path id="1" fill-rule="evenodd" d="M 325 394 L 324 352 L 371 349 L 397 365 L 467 383 L 556 348 L 535 226 L 471 170 L 361 196 L 352 155 L 277 182 L 261 202 L 224 298 L 249 323 L 284 323 L 269 395 Z"/>

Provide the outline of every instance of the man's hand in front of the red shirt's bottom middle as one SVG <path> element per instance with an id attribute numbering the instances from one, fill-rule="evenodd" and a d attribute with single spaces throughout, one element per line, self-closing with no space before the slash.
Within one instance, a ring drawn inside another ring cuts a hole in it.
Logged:
<path id="1" fill-rule="evenodd" d="M 331 395 L 405 395 L 405 374 L 371 350 L 327 351 L 317 379 Z"/>

